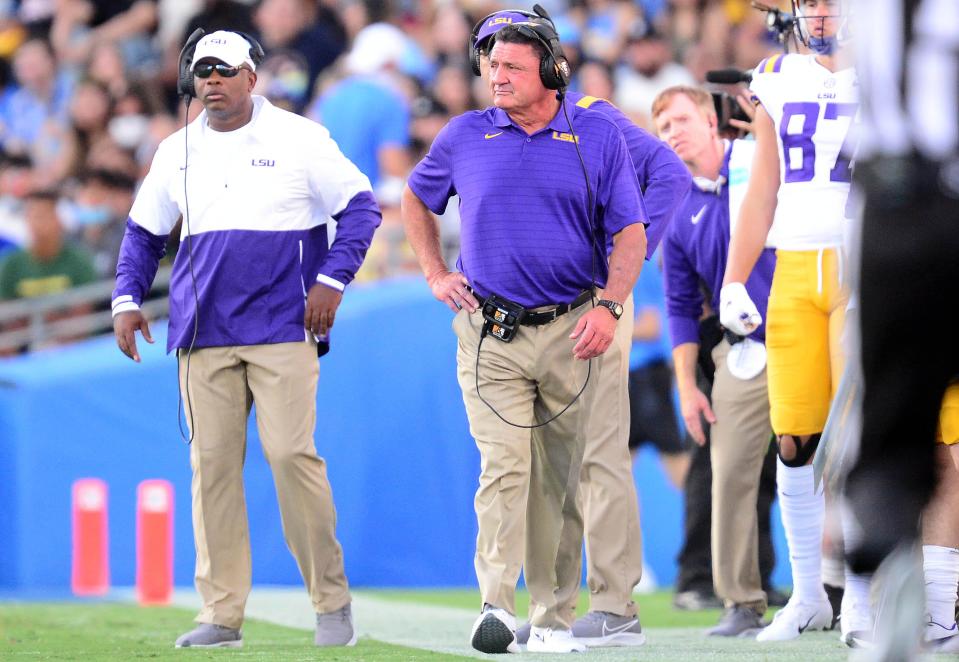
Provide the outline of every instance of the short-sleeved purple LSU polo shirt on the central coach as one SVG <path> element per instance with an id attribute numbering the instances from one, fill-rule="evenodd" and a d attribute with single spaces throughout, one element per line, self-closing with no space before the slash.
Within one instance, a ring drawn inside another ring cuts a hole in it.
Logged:
<path id="1" fill-rule="evenodd" d="M 647 223 L 623 134 L 603 114 L 566 103 L 592 188 L 562 109 L 533 135 L 499 108 L 450 120 L 409 178 L 441 214 L 460 196 L 457 268 L 481 296 L 527 307 L 570 302 L 608 274 L 605 246 L 627 225 Z M 594 250 L 594 245 L 599 251 Z"/>

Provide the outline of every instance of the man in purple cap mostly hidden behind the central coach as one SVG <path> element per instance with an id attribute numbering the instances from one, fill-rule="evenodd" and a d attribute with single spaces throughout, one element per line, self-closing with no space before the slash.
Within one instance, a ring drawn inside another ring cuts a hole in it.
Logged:
<path id="1" fill-rule="evenodd" d="M 470 35 L 469 59 L 473 73 L 488 76 L 489 51 L 496 33 L 507 25 L 521 22 L 549 23 L 553 27 L 549 16 L 538 5 L 534 12 L 509 9 L 486 16 Z M 646 204 L 649 218 L 646 254 L 651 256 L 689 191 L 689 171 L 665 143 L 637 127 L 608 101 L 577 92 L 568 92 L 566 101 L 604 114 L 622 131 Z M 632 304 L 632 297 L 627 298 L 625 306 L 629 314 L 626 323 L 618 326 L 615 338 L 623 344 L 622 351 L 627 356 L 632 344 Z M 609 390 L 597 398 L 615 398 L 619 382 L 604 381 L 600 387 Z M 629 431 L 623 429 L 615 417 L 597 417 L 593 423 L 583 457 L 579 503 L 567 504 L 566 508 L 557 583 L 567 608 L 574 612 L 582 581 L 581 550 L 585 533 L 590 610 L 573 623 L 573 634 L 591 647 L 640 645 L 645 635 L 632 594 L 642 577 L 643 557 Z M 537 495 L 530 495 L 531 500 L 536 498 Z M 704 505 L 708 508 L 708 504 Z M 535 604 L 530 611 L 534 609 Z M 528 623 L 519 628 L 519 643 L 526 643 L 529 632 Z"/>

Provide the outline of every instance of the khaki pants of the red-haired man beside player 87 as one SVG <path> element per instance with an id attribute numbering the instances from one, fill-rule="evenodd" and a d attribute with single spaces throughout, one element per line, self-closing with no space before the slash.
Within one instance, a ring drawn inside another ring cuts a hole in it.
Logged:
<path id="1" fill-rule="evenodd" d="M 725 339 L 713 349 L 713 584 L 727 607 L 743 605 L 762 613 L 766 593 L 759 575 L 756 499 L 772 439 L 766 371 L 749 380 L 733 377 L 726 367 L 729 350 Z"/>

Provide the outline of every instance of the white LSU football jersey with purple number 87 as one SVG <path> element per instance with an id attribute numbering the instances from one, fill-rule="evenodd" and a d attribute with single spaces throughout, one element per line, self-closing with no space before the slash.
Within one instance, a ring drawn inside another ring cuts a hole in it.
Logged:
<path id="1" fill-rule="evenodd" d="M 779 197 L 767 245 L 842 245 L 859 108 L 855 69 L 832 72 L 815 55 L 776 55 L 756 67 L 750 90 L 779 136 Z"/>

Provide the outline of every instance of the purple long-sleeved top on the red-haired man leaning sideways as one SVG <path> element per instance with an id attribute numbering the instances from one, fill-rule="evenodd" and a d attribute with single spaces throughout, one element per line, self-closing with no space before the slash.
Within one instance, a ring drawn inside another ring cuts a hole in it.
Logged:
<path id="1" fill-rule="evenodd" d="M 720 175 L 727 182 L 742 182 L 748 173 L 729 171 L 733 141 L 726 149 Z M 729 257 L 729 187 L 719 193 L 701 191 L 695 184 L 676 219 L 663 239 L 663 271 L 666 288 L 666 314 L 673 347 L 699 343 L 699 318 L 703 312 L 703 292 L 714 311 L 719 310 L 719 290 L 723 285 Z M 766 303 L 776 268 L 776 251 L 764 249 L 756 261 L 746 291 L 756 304 L 763 323 L 749 337 L 765 342 Z"/>

